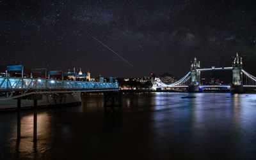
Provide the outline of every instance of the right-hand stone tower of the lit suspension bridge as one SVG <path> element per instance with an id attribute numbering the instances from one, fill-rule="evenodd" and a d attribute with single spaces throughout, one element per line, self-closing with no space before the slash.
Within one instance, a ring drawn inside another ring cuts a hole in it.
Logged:
<path id="1" fill-rule="evenodd" d="M 232 62 L 232 85 L 230 89 L 232 92 L 243 92 L 242 67 L 242 57 L 239 57 L 238 53 L 236 53 L 236 57 Z"/>

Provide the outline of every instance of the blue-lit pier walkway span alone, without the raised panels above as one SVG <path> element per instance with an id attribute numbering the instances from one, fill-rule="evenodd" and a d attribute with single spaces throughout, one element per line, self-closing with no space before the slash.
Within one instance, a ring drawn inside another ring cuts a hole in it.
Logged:
<path id="1" fill-rule="evenodd" d="M 13 95 L 13 93 L 17 92 L 19 92 L 19 96 L 22 96 L 22 94 L 29 94 L 31 92 L 35 94 L 40 92 L 95 91 L 118 91 L 118 83 L 0 77 L 0 92 L 9 92 L 10 94 L 7 94 L 7 98 L 17 98 L 17 96 Z"/>

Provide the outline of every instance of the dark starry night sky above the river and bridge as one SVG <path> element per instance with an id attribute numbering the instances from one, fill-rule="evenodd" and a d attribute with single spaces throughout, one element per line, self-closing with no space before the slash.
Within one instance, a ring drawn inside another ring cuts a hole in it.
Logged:
<path id="1" fill-rule="evenodd" d="M 22 0 L 0 6 L 1 66 L 181 77 L 195 56 L 202 68 L 222 67 L 239 52 L 244 69 L 256 75 L 256 1 Z"/>

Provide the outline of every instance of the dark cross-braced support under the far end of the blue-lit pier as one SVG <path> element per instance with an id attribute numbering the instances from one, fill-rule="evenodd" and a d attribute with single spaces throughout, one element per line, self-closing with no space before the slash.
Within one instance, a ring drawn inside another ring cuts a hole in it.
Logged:
<path id="1" fill-rule="evenodd" d="M 115 108 L 118 108 L 116 110 Z M 121 113 L 121 93 L 120 92 L 106 92 L 104 93 L 104 112 L 108 113 Z"/>

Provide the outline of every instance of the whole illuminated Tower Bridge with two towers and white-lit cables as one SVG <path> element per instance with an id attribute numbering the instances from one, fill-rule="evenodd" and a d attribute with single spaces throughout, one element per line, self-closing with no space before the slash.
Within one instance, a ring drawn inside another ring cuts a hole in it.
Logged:
<path id="1" fill-rule="evenodd" d="M 232 70 L 232 82 L 230 85 L 201 85 L 200 74 L 202 71 L 225 71 Z M 242 57 L 238 53 L 234 57 L 232 67 L 222 68 L 200 68 L 200 61 L 196 60 L 191 63 L 190 71 L 184 77 L 180 78 L 173 84 L 164 84 L 159 78 L 155 78 L 152 89 L 184 89 L 188 92 L 198 92 L 207 88 L 228 89 L 232 92 L 244 92 L 244 89 L 256 88 L 256 77 L 244 71 Z"/>

